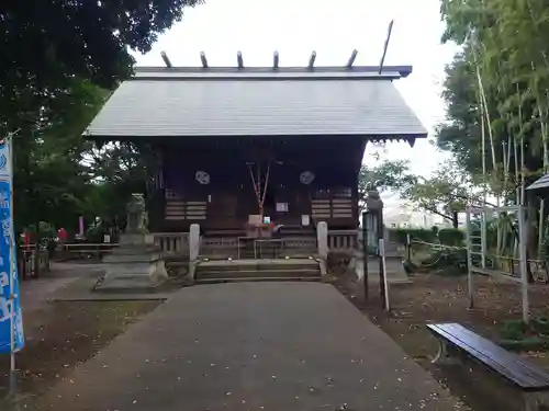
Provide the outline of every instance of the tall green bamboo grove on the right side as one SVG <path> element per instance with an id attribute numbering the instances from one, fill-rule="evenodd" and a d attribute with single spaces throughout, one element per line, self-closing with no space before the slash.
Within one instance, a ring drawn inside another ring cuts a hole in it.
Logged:
<path id="1" fill-rule="evenodd" d="M 498 205 L 528 206 L 529 258 L 544 254 L 549 205 L 525 186 L 549 172 L 549 3 L 442 0 L 441 19 L 442 41 L 462 48 L 447 68 L 437 145 Z"/>

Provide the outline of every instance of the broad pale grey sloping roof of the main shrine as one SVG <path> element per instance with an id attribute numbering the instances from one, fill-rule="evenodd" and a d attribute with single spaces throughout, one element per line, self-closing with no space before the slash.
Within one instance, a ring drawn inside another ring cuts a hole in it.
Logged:
<path id="1" fill-rule="evenodd" d="M 356 135 L 426 137 L 393 80 L 408 66 L 137 68 L 85 132 L 91 138 Z"/>

